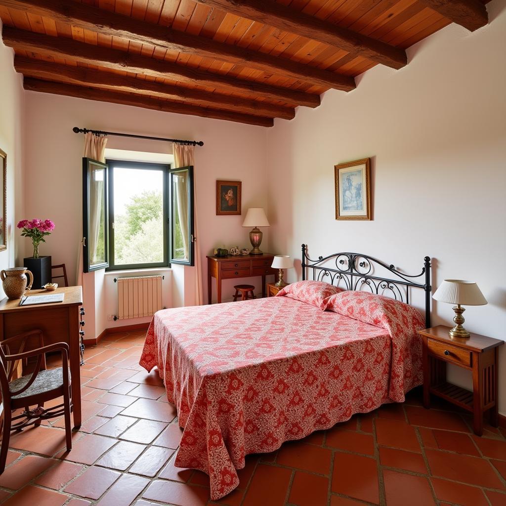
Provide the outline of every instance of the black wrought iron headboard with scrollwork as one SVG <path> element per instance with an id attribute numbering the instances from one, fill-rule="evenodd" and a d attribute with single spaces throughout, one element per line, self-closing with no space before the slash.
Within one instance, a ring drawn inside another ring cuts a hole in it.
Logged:
<path id="1" fill-rule="evenodd" d="M 335 269 L 327 265 L 334 260 Z M 374 266 L 381 266 L 387 271 L 395 274 L 394 279 L 384 278 L 374 275 Z M 306 244 L 302 245 L 302 279 L 306 279 L 306 268 L 313 269 L 313 280 L 323 281 L 323 278 L 329 277 L 330 284 L 339 285 L 341 281 L 347 290 L 360 290 L 363 285 L 371 290 L 372 293 L 383 293 L 390 290 L 395 299 L 409 304 L 409 288 L 422 288 L 425 291 L 425 324 L 427 328 L 431 326 L 431 259 L 424 258 L 424 268 L 420 274 L 411 276 L 399 272 L 394 265 L 387 265 L 368 255 L 360 253 L 334 253 L 327 257 L 318 257 L 318 260 L 312 260 L 307 255 Z M 412 280 L 424 276 L 424 283 L 416 283 Z M 405 292 L 400 287 L 405 288 Z"/>

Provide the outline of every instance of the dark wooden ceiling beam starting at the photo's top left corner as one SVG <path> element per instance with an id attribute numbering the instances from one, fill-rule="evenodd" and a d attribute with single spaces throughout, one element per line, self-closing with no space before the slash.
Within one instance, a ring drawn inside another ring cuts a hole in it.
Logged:
<path id="1" fill-rule="evenodd" d="M 233 62 L 270 74 L 310 82 L 313 85 L 350 91 L 355 88 L 353 77 L 321 70 L 309 65 L 279 58 L 258 51 L 223 44 L 213 39 L 191 35 L 147 23 L 113 12 L 63 0 L 0 0 L 0 5 L 30 14 L 46 16 L 103 35 L 128 38 L 141 44 L 159 46 L 172 51 Z"/>

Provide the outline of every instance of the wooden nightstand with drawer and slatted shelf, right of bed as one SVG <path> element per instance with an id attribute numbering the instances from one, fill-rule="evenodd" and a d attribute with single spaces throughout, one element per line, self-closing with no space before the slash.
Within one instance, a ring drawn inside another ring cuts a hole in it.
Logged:
<path id="1" fill-rule="evenodd" d="M 418 331 L 423 339 L 424 406 L 430 407 L 430 394 L 434 394 L 471 411 L 474 432 L 481 436 L 485 411 L 489 411 L 491 425 L 497 427 L 499 422 L 497 366 L 499 346 L 504 341 L 479 334 L 452 339 L 449 330 L 438 325 Z M 473 392 L 446 381 L 446 363 L 472 372 Z"/>

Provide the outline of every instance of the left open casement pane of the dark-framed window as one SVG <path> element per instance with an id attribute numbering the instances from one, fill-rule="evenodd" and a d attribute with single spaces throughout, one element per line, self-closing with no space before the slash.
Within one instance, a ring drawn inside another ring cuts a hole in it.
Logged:
<path id="1" fill-rule="evenodd" d="M 109 266 L 107 165 L 82 159 L 83 272 Z"/>

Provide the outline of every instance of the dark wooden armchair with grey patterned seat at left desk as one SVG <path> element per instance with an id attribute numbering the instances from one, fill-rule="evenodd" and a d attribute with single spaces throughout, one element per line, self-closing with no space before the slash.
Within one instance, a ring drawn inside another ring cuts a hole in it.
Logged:
<path id="1" fill-rule="evenodd" d="M 28 342 L 38 338 L 39 348 L 25 351 Z M 62 366 L 46 369 L 46 353 L 60 351 Z M 13 353 L 14 352 L 14 353 Z M 44 346 L 41 330 L 30 330 L 0 342 L 0 388 L 4 403 L 4 427 L 2 431 L 2 448 L 0 449 L 0 474 L 5 470 L 7 450 L 11 432 L 24 427 L 39 426 L 42 420 L 64 415 L 67 451 L 72 449 L 72 411 L 70 374 L 68 368 L 69 347 L 66 343 L 55 343 Z M 19 361 L 28 358 L 37 359 L 31 374 L 11 381 Z M 44 409 L 44 403 L 63 396 L 63 403 Z M 37 406 L 31 410 L 30 406 Z M 17 416 L 12 416 L 16 409 L 24 408 Z M 13 425 L 15 420 L 19 420 Z M 44 437 L 41 435 L 41 437 Z"/>

